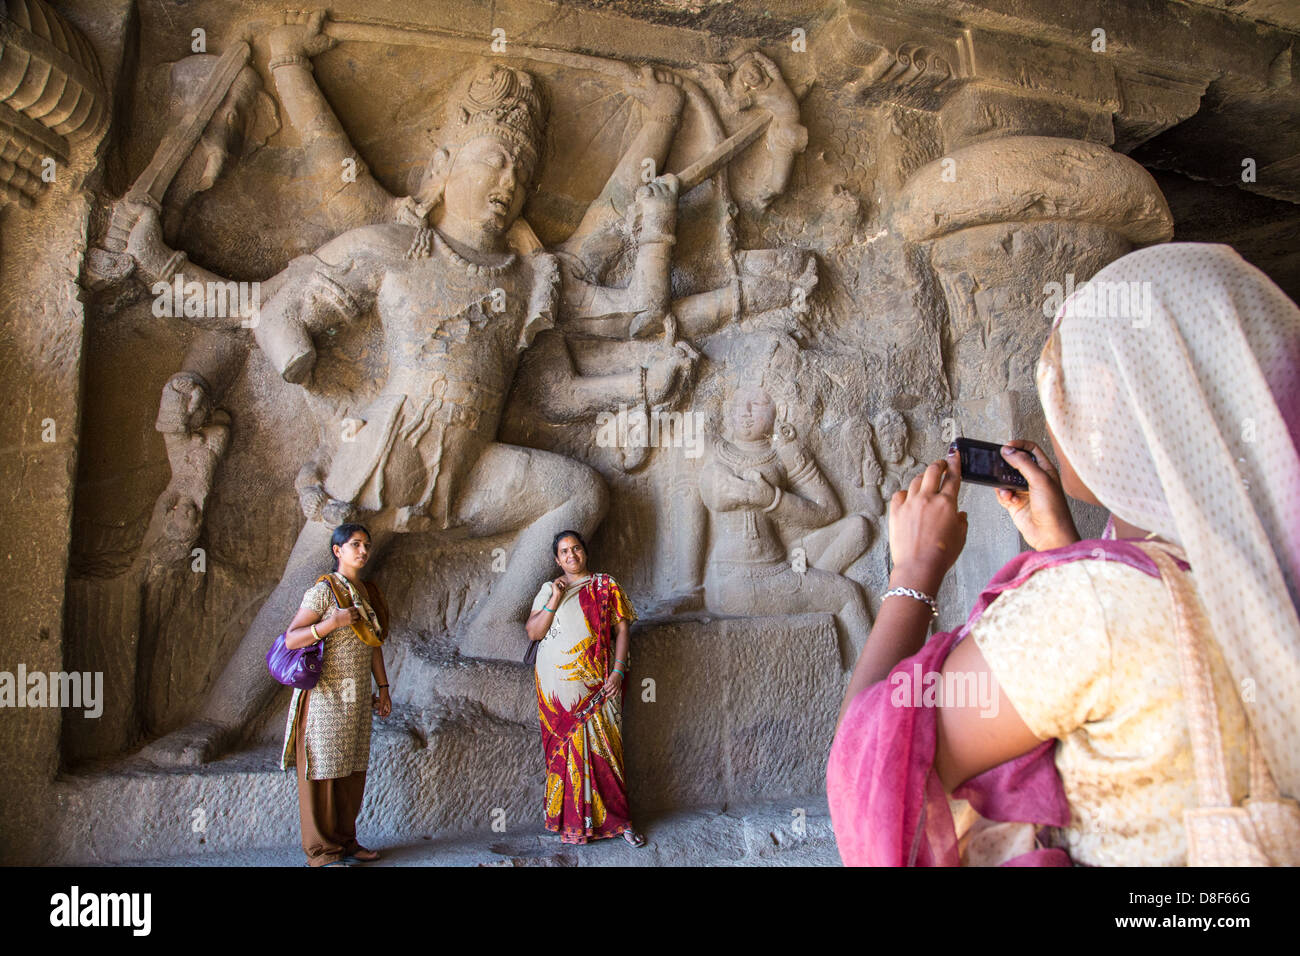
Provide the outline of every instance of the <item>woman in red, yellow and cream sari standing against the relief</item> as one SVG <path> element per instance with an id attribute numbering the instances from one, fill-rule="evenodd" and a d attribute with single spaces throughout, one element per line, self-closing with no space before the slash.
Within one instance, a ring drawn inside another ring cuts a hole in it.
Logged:
<path id="1" fill-rule="evenodd" d="M 563 575 L 537 592 L 525 630 L 537 641 L 537 713 L 546 753 L 546 829 L 563 843 L 645 838 L 628 818 L 623 682 L 632 604 L 610 575 L 586 570 L 586 542 L 552 542 Z"/>

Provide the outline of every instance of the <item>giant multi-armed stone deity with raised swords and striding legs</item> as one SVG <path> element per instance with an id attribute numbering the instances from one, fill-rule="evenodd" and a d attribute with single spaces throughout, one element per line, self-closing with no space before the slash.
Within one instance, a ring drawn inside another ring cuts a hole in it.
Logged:
<path id="1" fill-rule="evenodd" d="M 228 347 L 230 334 L 238 334 L 237 320 L 251 328 L 285 382 L 304 389 L 317 410 L 333 406 L 334 420 L 326 415 L 321 433 L 330 425 L 338 425 L 338 433 L 321 442 L 294 481 L 307 524 L 280 584 L 254 617 L 200 719 L 148 749 L 161 762 L 221 752 L 265 706 L 274 691 L 259 672 L 265 632 L 292 613 L 335 524 L 365 520 L 378 551 L 399 533 L 517 532 L 506 581 L 545 576 L 555 531 L 595 528 L 607 501 L 599 476 L 562 454 L 495 441 L 521 352 L 528 362 L 519 384 L 547 420 L 589 421 L 601 410 L 625 405 L 660 412 L 689 397 L 699 359 L 690 339 L 725 325 L 753 328 L 753 320 L 797 329 L 816 284 L 815 261 L 806 252 L 740 250 L 734 243 L 728 164 L 755 139 L 764 146 L 748 164 L 748 191 L 740 196 L 762 211 L 785 187 L 793 156 L 806 143 L 797 101 L 762 55 L 712 66 L 698 83 L 672 70 L 621 70 L 645 122 L 577 228 L 546 251 L 520 216 L 545 148 L 547 103 L 536 77 L 503 65 L 478 69 L 450 104 L 450 120 L 413 194 L 394 195 L 360 161 L 312 79 L 309 57 L 337 43 L 326 27 L 338 26 L 318 13 L 286 17 L 268 36 L 268 68 L 286 118 L 307 134 L 304 151 L 316 176 L 355 164 L 330 204 L 339 235 L 261 284 L 257 313 L 185 316 L 203 330 L 164 390 L 157 427 L 173 477 L 157 499 L 143 550 L 155 563 L 174 563 L 198 540 L 216 463 L 231 436 L 229 416 L 213 408 L 220 384 L 209 378 L 228 381 L 228 367 L 238 363 L 240 349 Z M 214 100 L 224 104 L 213 120 L 218 129 L 237 129 L 248 113 L 257 85 L 244 78 L 246 56 L 228 51 L 208 82 L 195 85 L 203 96 L 177 124 L 191 140 L 207 129 L 203 111 Z M 686 103 L 701 114 L 707 148 L 675 142 Z M 151 284 L 179 284 L 182 276 L 185 287 L 230 282 L 187 263 L 185 252 L 169 245 L 188 196 L 211 186 L 230 155 L 221 140 L 195 148 L 205 142 L 200 137 L 181 147 L 190 150 L 187 164 L 199 164 L 198 177 L 183 169 L 159 176 L 151 165 L 155 174 L 147 170 L 114 208 L 104 245 L 112 254 L 125 233 L 136 274 Z M 173 138 L 159 155 L 177 148 Z M 680 176 L 644 176 L 647 164 L 662 169 L 670 155 L 682 151 L 703 155 Z M 722 235 L 716 259 L 725 268 L 718 278 L 675 281 L 679 202 L 705 183 L 711 195 L 705 196 L 701 219 L 711 219 Z M 99 265 L 92 285 L 126 272 L 113 268 L 108 256 L 100 256 Z M 675 287 L 685 294 L 675 295 Z M 376 394 L 332 381 L 317 362 L 317 338 L 368 315 L 381 329 L 386 365 Z M 582 351 L 623 354 L 630 368 L 584 375 L 575 363 L 575 352 Z M 352 415 L 341 418 L 339 408 Z M 630 471 L 641 462 L 624 454 L 620 464 Z M 456 627 L 459 652 L 514 658 L 520 594 L 510 587 L 489 589 Z"/>

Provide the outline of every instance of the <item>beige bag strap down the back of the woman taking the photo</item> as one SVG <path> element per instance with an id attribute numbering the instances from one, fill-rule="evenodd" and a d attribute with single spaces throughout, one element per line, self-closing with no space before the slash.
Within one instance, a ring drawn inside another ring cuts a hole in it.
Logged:
<path id="1" fill-rule="evenodd" d="M 1183 701 L 1192 740 L 1192 762 L 1196 766 L 1197 803 L 1202 808 L 1232 806 L 1227 765 L 1223 758 L 1223 731 L 1218 719 L 1218 700 L 1214 678 L 1205 656 L 1204 635 L 1209 633 L 1205 613 L 1191 583 L 1174 559 L 1160 545 L 1139 545 L 1160 568 L 1161 580 L 1174 606 L 1174 631 L 1178 640 L 1178 661 L 1182 671 Z M 1260 753 L 1254 732 L 1249 735 L 1251 796 L 1278 799 L 1278 787 Z"/>

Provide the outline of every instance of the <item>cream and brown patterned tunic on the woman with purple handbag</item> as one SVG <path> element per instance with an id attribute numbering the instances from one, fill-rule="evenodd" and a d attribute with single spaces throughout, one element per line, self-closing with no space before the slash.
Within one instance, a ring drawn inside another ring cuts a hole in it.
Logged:
<path id="1" fill-rule="evenodd" d="M 335 578 L 346 587 L 347 579 Z M 351 588 L 352 601 L 361 606 L 378 632 L 373 609 Z M 328 581 L 320 581 L 303 594 L 302 606 L 321 618 L 338 607 Z M 321 676 L 307 708 L 307 779 L 326 780 L 364 771 L 370 762 L 370 659 L 374 648 L 361 641 L 351 627 L 339 627 L 325 635 Z M 285 726 L 285 747 L 280 766 L 295 766 L 294 731 L 303 700 L 303 691 L 294 691 Z"/>

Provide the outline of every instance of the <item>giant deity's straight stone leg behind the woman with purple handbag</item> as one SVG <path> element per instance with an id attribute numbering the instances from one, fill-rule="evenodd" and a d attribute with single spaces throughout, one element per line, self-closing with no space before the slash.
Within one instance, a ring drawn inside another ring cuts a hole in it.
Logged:
<path id="1" fill-rule="evenodd" d="M 378 559 L 391 537 L 386 524 L 369 523 L 370 562 Z M 257 718 L 282 688 L 266 672 L 266 650 L 282 632 L 321 574 L 332 567 L 330 535 L 321 522 L 307 522 L 298 533 L 280 584 L 261 605 L 234 656 L 192 723 L 168 734 L 142 752 L 161 766 L 194 766 L 218 758 L 240 743 L 244 728 Z"/>

